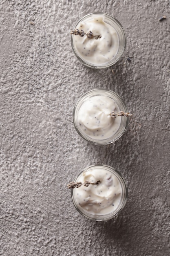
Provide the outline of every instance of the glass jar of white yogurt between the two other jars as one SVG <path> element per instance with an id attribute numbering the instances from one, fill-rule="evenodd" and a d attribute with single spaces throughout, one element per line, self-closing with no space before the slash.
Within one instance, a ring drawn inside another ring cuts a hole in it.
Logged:
<path id="1" fill-rule="evenodd" d="M 75 129 L 92 144 L 110 144 L 124 134 L 129 123 L 129 117 L 111 117 L 113 110 L 115 113 L 128 112 L 125 102 L 116 92 L 107 89 L 86 92 L 73 109 Z"/>

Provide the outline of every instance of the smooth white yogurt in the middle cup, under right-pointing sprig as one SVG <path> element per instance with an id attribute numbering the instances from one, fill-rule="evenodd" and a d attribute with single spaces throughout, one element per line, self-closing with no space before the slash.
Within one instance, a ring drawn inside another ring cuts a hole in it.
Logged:
<path id="1" fill-rule="evenodd" d="M 92 139 L 110 138 L 121 124 L 121 117 L 110 116 L 112 111 L 117 113 L 120 109 L 110 97 L 102 95 L 90 97 L 83 102 L 77 113 L 79 131 Z"/>

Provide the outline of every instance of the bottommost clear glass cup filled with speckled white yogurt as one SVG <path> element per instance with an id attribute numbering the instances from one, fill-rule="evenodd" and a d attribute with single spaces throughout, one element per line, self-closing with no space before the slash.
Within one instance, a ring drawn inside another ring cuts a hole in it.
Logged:
<path id="1" fill-rule="evenodd" d="M 93 177 L 95 182 L 100 180 L 100 184 L 89 184 L 88 187 L 82 185 L 71 189 L 71 198 L 77 211 L 95 221 L 110 220 L 117 216 L 126 205 L 128 197 L 127 185 L 121 173 L 105 164 L 91 165 L 84 168 L 75 177 L 74 182 L 83 183 L 84 174 L 88 179 Z"/>

